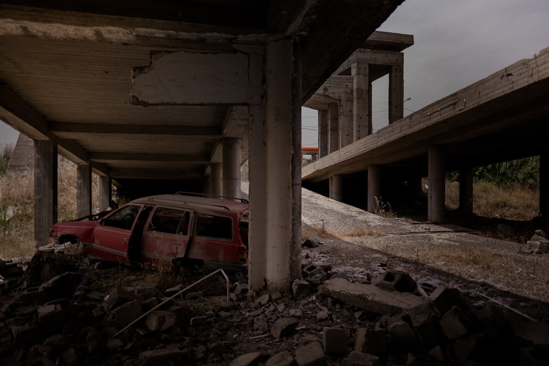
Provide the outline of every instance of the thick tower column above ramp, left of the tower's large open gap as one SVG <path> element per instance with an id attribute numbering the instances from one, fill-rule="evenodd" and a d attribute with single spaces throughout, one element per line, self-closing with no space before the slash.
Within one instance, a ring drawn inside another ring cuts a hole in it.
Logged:
<path id="1" fill-rule="evenodd" d="M 371 130 L 368 64 L 362 61 L 353 64 L 351 66 L 351 75 L 353 77 L 352 125 L 354 127 L 352 142 L 355 142 L 368 136 Z"/>

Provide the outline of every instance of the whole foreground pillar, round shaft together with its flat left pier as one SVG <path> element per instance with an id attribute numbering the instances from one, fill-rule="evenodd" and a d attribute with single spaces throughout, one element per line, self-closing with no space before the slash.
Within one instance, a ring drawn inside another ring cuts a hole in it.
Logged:
<path id="1" fill-rule="evenodd" d="M 296 41 L 267 45 L 266 91 L 264 131 L 260 108 L 254 107 L 259 118 L 254 116 L 250 141 L 249 283 L 253 290 L 263 283 L 269 291 L 289 291 L 301 277 L 301 53 Z M 257 221 L 264 222 L 264 238 Z"/>

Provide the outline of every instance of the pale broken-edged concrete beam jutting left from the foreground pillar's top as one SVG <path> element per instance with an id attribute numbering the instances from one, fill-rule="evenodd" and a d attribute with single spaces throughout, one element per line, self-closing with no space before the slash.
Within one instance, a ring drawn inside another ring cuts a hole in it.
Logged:
<path id="1" fill-rule="evenodd" d="M 263 95 L 259 54 L 165 52 L 132 73 L 133 104 L 259 104 Z"/>

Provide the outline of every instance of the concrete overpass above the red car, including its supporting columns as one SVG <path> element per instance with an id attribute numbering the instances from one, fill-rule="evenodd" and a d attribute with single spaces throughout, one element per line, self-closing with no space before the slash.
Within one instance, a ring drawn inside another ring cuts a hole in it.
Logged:
<path id="1" fill-rule="evenodd" d="M 239 195 L 250 164 L 250 286 L 301 277 L 301 116 L 404 0 L 0 1 L 0 119 L 34 140 L 35 239 L 57 221 L 57 154 L 78 211 L 111 180 L 194 179 Z M 267 261 L 268 258 L 268 261 Z"/>

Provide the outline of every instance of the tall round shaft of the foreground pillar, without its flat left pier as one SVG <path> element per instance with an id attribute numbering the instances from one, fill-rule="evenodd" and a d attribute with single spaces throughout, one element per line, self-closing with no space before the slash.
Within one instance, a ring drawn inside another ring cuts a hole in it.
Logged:
<path id="1" fill-rule="evenodd" d="M 272 42 L 266 53 L 266 283 L 291 290 L 301 277 L 301 58 L 299 43 Z M 299 162 L 298 162 L 299 161 Z"/>

